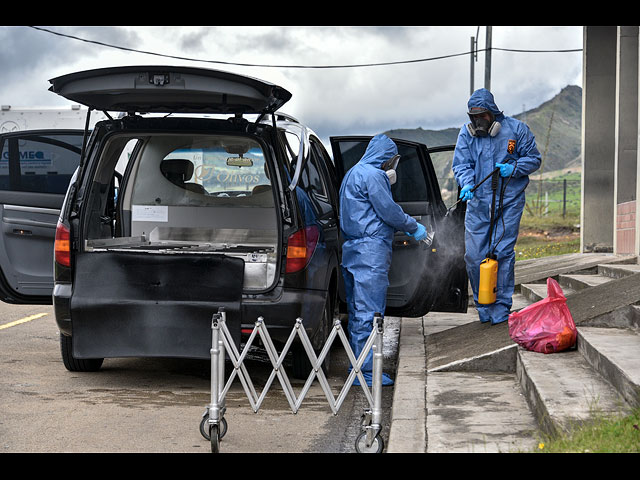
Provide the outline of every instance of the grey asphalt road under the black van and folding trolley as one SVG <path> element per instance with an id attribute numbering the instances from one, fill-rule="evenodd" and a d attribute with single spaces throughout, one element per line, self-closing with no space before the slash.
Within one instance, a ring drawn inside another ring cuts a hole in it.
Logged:
<path id="1" fill-rule="evenodd" d="M 393 374 L 397 319 L 385 320 L 385 371 Z M 260 351 L 247 363 L 258 393 L 272 367 Z M 337 397 L 346 355 L 332 349 L 329 383 Z M 106 359 L 95 373 L 65 369 L 51 306 L 0 303 L 0 452 L 210 453 L 199 431 L 210 401 L 210 362 Z M 285 364 L 286 369 L 286 364 Z M 304 381 L 292 380 L 296 393 Z M 388 439 L 393 388 L 383 389 Z M 333 415 L 318 381 L 293 414 L 277 380 L 254 413 L 236 380 L 227 396 L 221 453 L 351 453 L 368 406 L 352 387 Z"/>

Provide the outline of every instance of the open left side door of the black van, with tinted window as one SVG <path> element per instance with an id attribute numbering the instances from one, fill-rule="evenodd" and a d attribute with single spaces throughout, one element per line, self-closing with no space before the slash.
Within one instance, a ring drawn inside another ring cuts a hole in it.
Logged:
<path id="1" fill-rule="evenodd" d="M 0 300 L 50 304 L 60 208 L 80 162 L 83 130 L 0 135 Z"/>

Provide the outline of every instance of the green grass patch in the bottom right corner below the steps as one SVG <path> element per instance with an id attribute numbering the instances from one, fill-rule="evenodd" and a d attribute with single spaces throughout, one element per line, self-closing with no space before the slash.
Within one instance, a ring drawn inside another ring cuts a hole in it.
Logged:
<path id="1" fill-rule="evenodd" d="M 596 415 L 570 434 L 544 439 L 535 452 L 640 453 L 640 408 L 628 416 Z"/>

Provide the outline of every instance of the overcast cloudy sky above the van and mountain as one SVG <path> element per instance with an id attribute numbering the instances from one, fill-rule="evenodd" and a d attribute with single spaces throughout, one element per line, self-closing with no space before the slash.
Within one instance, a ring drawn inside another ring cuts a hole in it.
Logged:
<path id="1" fill-rule="evenodd" d="M 484 26 L 435 27 L 43 27 L 115 46 L 199 60 L 268 65 L 346 65 L 455 55 L 486 46 Z M 494 26 L 494 48 L 581 49 L 581 26 Z M 470 92 L 468 55 L 359 68 L 299 69 L 221 65 L 122 51 L 31 29 L 0 27 L 0 103 L 57 107 L 48 91 L 59 75 L 108 66 L 166 64 L 232 71 L 276 83 L 293 94 L 282 111 L 323 140 L 392 128 L 460 127 Z M 485 53 L 475 62 L 484 86 Z M 492 52 L 491 91 L 506 115 L 537 107 L 567 85 L 582 86 L 582 53 Z"/>

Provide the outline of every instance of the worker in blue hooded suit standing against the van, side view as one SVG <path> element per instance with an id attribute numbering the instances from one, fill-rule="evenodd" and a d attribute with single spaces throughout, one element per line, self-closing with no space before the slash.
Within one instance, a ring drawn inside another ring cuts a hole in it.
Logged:
<path id="1" fill-rule="evenodd" d="M 390 178 L 395 179 L 392 163 L 397 163 L 397 154 L 398 147 L 389 137 L 376 135 L 340 186 L 342 273 L 349 342 L 356 359 L 373 330 L 374 314 L 384 315 L 395 231 L 404 231 L 418 241 L 427 235 L 425 227 L 404 213 L 391 196 Z M 362 366 L 369 386 L 372 366 L 370 352 Z M 357 377 L 354 384 L 359 385 Z M 383 385 L 393 385 L 393 381 L 383 375 Z"/>

